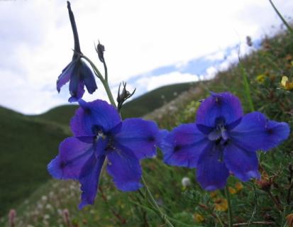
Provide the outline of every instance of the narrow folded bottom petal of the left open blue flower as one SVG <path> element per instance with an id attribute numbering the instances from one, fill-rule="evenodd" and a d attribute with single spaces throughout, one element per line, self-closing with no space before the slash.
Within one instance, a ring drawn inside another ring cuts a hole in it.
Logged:
<path id="1" fill-rule="evenodd" d="M 82 184 L 82 201 L 79 204 L 79 209 L 82 209 L 87 204 L 94 204 L 96 192 L 98 190 L 99 177 L 101 169 L 106 158 L 105 148 L 108 141 L 99 139 L 94 145 L 95 153 L 84 164 L 79 175 L 79 182 Z"/>

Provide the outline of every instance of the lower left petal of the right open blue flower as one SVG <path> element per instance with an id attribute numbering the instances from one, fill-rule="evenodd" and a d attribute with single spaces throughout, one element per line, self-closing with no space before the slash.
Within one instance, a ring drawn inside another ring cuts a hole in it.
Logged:
<path id="1" fill-rule="evenodd" d="M 229 171 L 221 160 L 223 150 L 214 143 L 206 146 L 197 162 L 197 181 L 203 189 L 213 191 L 225 187 Z"/>

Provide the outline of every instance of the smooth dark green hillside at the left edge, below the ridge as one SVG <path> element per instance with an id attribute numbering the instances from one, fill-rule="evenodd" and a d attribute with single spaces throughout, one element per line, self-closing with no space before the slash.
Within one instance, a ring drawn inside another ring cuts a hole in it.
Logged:
<path id="1" fill-rule="evenodd" d="M 50 178 L 46 164 L 67 133 L 4 108 L 0 119 L 0 216 L 4 216 Z"/>

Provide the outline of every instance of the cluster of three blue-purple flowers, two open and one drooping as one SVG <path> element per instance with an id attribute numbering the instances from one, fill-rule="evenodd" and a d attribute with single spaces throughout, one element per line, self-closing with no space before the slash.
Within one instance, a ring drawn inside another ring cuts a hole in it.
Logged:
<path id="1" fill-rule="evenodd" d="M 70 4 L 68 10 L 74 22 Z M 75 23 L 72 30 L 74 50 L 80 52 Z M 57 80 L 58 92 L 70 81 L 70 101 L 79 103 L 70 123 L 73 136 L 60 144 L 48 171 L 57 179 L 80 182 L 80 209 L 94 204 L 103 166 L 121 191 L 142 187 L 140 160 L 154 157 L 157 147 L 167 165 L 197 168 L 201 187 L 215 190 L 225 187 L 231 174 L 242 181 L 259 178 L 256 152 L 275 148 L 289 136 L 287 123 L 270 121 L 260 112 L 244 115 L 241 102 L 229 92 L 211 93 L 201 102 L 194 123 L 182 124 L 171 132 L 141 118 L 122 121 L 116 107 L 106 101 L 82 99 L 84 85 L 92 93 L 96 82 L 77 52 Z M 126 90 L 123 94 L 129 96 Z M 126 98 L 120 97 L 123 101 Z"/>

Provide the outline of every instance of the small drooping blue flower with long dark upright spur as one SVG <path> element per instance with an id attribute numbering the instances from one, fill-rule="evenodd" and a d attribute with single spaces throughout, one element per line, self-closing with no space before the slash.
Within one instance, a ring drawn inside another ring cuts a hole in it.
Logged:
<path id="1" fill-rule="evenodd" d="M 81 99 L 84 94 L 84 85 L 87 91 L 92 94 L 96 90 L 96 81 L 92 70 L 80 57 L 81 51 L 79 46 L 79 38 L 74 16 L 70 8 L 70 2 L 67 1 L 67 8 L 70 15 L 70 22 L 74 36 L 74 54 L 70 62 L 57 79 L 57 91 L 60 92 L 61 87 L 70 81 L 70 102 Z"/>

